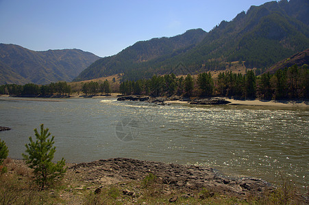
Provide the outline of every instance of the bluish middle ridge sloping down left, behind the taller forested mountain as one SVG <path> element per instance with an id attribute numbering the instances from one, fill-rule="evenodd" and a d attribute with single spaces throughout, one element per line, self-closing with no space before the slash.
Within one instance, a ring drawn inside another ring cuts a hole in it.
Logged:
<path id="1" fill-rule="evenodd" d="M 106 77 L 112 74 L 129 72 L 138 65 L 148 61 L 156 61 L 170 54 L 179 55 L 192 49 L 205 38 L 206 32 L 202 29 L 191 29 L 182 35 L 171 38 L 153 38 L 147 41 L 136 42 L 117 55 L 103 57 L 84 70 L 75 81 Z M 166 59 L 168 60 L 168 59 Z"/>

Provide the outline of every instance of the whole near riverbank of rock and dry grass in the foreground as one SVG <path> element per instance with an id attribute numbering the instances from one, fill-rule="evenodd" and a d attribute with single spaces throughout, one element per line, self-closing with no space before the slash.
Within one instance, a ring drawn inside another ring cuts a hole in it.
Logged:
<path id="1" fill-rule="evenodd" d="M 64 178 L 41 191 L 32 182 L 34 174 L 25 161 L 5 159 L 3 165 L 8 172 L 0 174 L 0 204 L 12 200 L 16 204 L 74 205 L 309 202 L 308 195 L 297 192 L 295 187 L 276 188 L 258 178 L 230 178 L 195 165 L 125 158 L 66 163 Z M 1 201 L 3 196 L 5 200 Z"/>

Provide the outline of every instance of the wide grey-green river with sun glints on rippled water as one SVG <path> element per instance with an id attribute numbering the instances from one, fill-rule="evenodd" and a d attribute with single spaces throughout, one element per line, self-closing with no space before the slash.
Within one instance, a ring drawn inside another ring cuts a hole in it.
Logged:
<path id="1" fill-rule="evenodd" d="M 55 136 L 55 160 L 80 163 L 127 157 L 205 165 L 230 176 L 298 186 L 309 177 L 308 108 L 170 105 L 114 98 L 0 97 L 0 132 L 21 159 L 34 128 Z"/>

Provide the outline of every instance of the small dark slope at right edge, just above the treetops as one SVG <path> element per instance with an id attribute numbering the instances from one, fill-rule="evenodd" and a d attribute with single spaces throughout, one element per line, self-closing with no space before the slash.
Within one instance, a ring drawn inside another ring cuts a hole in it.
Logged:
<path id="1" fill-rule="evenodd" d="M 289 68 L 293 65 L 303 66 L 304 64 L 309 65 L 309 49 L 296 53 L 295 55 L 278 62 L 277 64 L 271 66 L 267 72 L 274 74 L 277 70 L 283 70 L 284 68 Z"/>

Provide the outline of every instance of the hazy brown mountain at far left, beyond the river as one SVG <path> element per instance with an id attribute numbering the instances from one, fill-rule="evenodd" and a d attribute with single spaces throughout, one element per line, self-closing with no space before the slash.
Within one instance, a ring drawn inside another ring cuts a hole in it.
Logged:
<path id="1" fill-rule="evenodd" d="M 0 44 L 0 84 L 72 81 L 99 59 L 77 49 L 31 51 L 14 44 Z"/>

